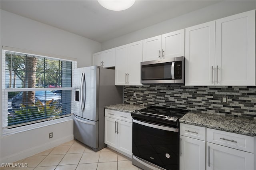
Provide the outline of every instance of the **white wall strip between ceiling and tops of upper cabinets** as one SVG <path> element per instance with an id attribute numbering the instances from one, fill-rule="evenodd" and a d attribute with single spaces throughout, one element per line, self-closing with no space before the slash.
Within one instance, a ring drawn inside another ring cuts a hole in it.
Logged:
<path id="1" fill-rule="evenodd" d="M 200 10 L 103 42 L 102 51 L 254 9 L 256 9 L 256 1 L 253 0 L 222 1 Z"/>

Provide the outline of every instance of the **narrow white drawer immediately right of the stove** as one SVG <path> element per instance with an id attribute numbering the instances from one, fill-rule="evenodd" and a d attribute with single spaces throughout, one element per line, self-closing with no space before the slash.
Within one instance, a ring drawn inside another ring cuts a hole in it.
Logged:
<path id="1" fill-rule="evenodd" d="M 180 135 L 205 140 L 206 128 L 180 123 Z"/>

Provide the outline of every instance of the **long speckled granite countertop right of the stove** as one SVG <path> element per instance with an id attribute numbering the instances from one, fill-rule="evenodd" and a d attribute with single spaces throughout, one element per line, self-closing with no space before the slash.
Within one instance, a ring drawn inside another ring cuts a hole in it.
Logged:
<path id="1" fill-rule="evenodd" d="M 256 121 L 245 118 L 188 112 L 180 118 L 179 121 L 180 123 L 200 127 L 213 128 L 227 132 L 245 134 L 248 136 L 256 136 Z"/>

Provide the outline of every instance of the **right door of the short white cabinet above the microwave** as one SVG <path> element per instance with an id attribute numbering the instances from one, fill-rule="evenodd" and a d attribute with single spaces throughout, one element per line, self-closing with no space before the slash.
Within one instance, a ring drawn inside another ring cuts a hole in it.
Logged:
<path id="1" fill-rule="evenodd" d="M 162 35 L 162 58 L 185 56 L 185 29 Z"/>

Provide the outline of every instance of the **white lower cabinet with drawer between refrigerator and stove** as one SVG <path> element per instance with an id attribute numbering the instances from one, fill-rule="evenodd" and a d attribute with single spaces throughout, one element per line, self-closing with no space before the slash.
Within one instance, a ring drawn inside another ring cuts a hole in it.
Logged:
<path id="1" fill-rule="evenodd" d="M 105 144 L 128 157 L 132 156 L 130 117 L 130 113 L 105 110 Z"/>

